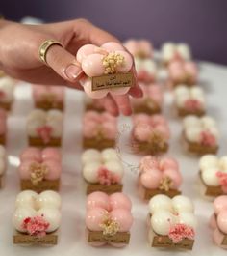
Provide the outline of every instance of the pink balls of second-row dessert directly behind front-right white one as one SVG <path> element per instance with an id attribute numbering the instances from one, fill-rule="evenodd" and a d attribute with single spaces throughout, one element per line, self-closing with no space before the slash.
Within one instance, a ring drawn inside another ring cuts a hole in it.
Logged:
<path id="1" fill-rule="evenodd" d="M 166 177 L 170 179 L 166 189 L 177 189 L 182 184 L 178 163 L 172 157 L 144 156 L 140 160 L 139 170 L 139 182 L 148 189 L 162 187 Z"/>

